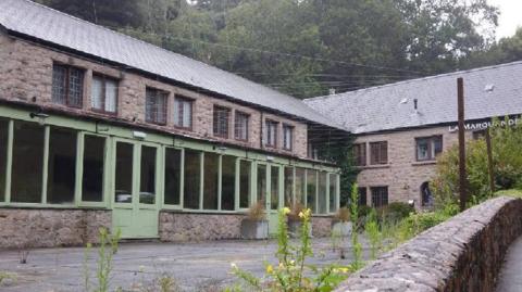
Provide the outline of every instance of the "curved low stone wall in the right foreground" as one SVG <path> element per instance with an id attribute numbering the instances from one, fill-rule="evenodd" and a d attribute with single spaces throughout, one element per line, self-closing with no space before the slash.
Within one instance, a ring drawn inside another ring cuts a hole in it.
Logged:
<path id="1" fill-rule="evenodd" d="M 521 214 L 522 200 L 492 199 L 382 255 L 336 291 L 494 291 L 504 256 L 522 234 Z"/>

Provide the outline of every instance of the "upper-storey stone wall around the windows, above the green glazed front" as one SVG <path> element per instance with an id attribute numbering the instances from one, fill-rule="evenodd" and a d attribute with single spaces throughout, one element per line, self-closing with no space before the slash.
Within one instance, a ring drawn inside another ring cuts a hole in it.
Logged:
<path id="1" fill-rule="evenodd" d="M 244 106 L 223 99 L 212 98 L 201 92 L 186 90 L 170 84 L 161 82 L 151 78 L 129 73 L 125 68 L 111 67 L 102 62 L 76 58 L 55 50 L 13 39 L 0 31 L 0 99 L 17 101 L 29 104 L 38 104 L 44 107 L 52 107 L 69 113 L 84 116 L 92 116 L 107 119 L 120 119 L 135 125 L 147 126 L 166 132 L 184 134 L 196 138 L 204 138 L 214 141 L 226 141 L 239 147 L 263 149 L 261 144 L 261 119 L 265 117 L 279 122 L 277 149 L 266 149 L 274 153 L 283 153 L 298 157 L 307 157 L 307 130 L 306 124 L 285 118 L 283 116 L 261 113 L 260 110 Z M 64 105 L 54 104 L 51 101 L 52 90 L 52 64 L 59 62 L 85 69 L 84 100 L 82 109 L 71 109 Z M 90 84 L 92 73 L 107 75 L 117 79 L 119 104 L 117 116 L 95 113 L 90 110 Z M 146 87 L 162 89 L 170 92 L 169 112 L 166 126 L 156 126 L 145 123 L 145 91 Z M 192 130 L 182 130 L 174 127 L 173 101 L 174 96 L 179 94 L 194 100 Z M 213 137 L 212 113 L 213 105 L 217 104 L 231 109 L 229 138 L 223 139 Z M 234 112 L 241 111 L 250 114 L 249 141 L 234 139 Z M 263 118 L 262 118 L 263 116 Z M 294 150 L 283 150 L 283 124 L 295 127 Z"/>

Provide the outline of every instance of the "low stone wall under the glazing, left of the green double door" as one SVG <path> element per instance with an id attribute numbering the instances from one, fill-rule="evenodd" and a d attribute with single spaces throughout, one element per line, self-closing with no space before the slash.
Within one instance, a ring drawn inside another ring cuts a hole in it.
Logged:
<path id="1" fill-rule="evenodd" d="M 0 249 L 96 243 L 111 220 L 110 211 L 0 208 Z"/>

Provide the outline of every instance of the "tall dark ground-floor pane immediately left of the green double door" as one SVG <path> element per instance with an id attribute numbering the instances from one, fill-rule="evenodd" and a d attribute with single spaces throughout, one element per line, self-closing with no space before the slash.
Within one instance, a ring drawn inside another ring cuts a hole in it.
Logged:
<path id="1" fill-rule="evenodd" d="M 86 135 L 84 138 L 84 174 L 82 201 L 103 201 L 103 164 L 105 138 Z"/>

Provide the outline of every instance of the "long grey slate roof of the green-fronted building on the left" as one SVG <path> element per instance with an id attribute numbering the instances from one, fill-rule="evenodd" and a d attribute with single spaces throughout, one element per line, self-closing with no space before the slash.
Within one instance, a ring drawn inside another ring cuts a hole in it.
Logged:
<path id="1" fill-rule="evenodd" d="M 301 100 L 28 0 L 0 0 L 0 25 L 9 33 L 29 36 L 309 122 L 341 128 Z"/>

